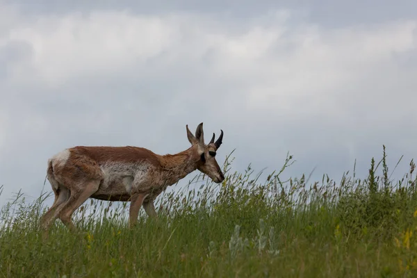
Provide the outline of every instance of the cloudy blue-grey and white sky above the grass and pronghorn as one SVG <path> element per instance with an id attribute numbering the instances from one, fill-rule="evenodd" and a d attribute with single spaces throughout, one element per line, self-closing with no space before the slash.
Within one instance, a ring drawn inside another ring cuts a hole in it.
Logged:
<path id="1" fill-rule="evenodd" d="M 174 154 L 200 122 L 206 142 L 224 131 L 218 161 L 235 149 L 236 171 L 289 152 L 286 177 L 337 181 L 355 160 L 366 177 L 386 145 L 402 177 L 416 76 L 411 0 L 0 0 L 0 206 L 38 197 L 62 149 Z"/>

